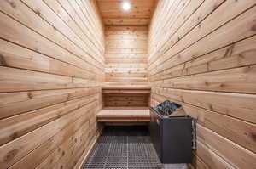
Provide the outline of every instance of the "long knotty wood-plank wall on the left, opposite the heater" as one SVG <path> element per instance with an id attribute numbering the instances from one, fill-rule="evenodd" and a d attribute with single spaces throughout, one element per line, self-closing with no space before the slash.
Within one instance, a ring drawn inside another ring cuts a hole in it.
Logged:
<path id="1" fill-rule="evenodd" d="M 73 168 L 96 138 L 104 36 L 93 0 L 0 3 L 0 168 Z"/>

